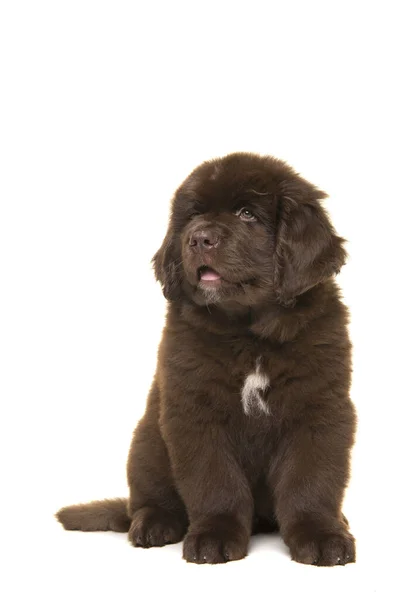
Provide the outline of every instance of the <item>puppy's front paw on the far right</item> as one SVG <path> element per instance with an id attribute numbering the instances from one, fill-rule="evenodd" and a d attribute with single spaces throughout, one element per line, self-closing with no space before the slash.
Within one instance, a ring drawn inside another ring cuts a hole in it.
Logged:
<path id="1" fill-rule="evenodd" d="M 302 524 L 290 536 L 288 546 L 292 559 L 307 565 L 333 567 L 356 560 L 354 538 L 343 527 L 329 530 Z"/>

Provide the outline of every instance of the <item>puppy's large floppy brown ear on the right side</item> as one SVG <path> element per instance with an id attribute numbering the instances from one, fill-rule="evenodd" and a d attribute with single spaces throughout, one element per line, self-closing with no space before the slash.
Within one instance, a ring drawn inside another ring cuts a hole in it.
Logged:
<path id="1" fill-rule="evenodd" d="M 300 296 L 338 273 L 346 261 L 320 204 L 326 194 L 301 177 L 285 182 L 278 198 L 274 283 L 278 301 L 293 306 Z"/>

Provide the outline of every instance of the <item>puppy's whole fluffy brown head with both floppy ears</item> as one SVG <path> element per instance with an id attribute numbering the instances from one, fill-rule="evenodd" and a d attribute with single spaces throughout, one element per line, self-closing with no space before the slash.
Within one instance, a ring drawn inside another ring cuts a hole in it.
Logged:
<path id="1" fill-rule="evenodd" d="M 221 307 L 294 304 L 345 260 L 320 206 L 324 197 L 271 157 L 203 163 L 177 190 L 154 257 L 165 296 Z"/>

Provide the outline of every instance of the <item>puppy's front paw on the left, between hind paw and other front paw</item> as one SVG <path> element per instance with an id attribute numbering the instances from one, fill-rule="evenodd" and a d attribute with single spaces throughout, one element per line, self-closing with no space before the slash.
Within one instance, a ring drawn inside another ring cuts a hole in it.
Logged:
<path id="1" fill-rule="evenodd" d="M 183 558 L 197 564 L 240 560 L 247 554 L 249 534 L 234 519 L 213 518 L 194 524 L 183 542 Z"/>

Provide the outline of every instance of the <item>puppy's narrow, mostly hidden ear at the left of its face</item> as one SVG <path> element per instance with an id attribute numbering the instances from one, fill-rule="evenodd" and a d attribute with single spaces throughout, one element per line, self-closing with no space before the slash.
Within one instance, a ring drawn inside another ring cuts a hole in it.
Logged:
<path id="1" fill-rule="evenodd" d="M 173 229 L 170 224 L 161 247 L 152 259 L 156 279 L 161 283 L 163 294 L 167 300 L 177 300 L 180 297 L 182 277 L 179 265 L 181 259 L 175 246 Z"/>

